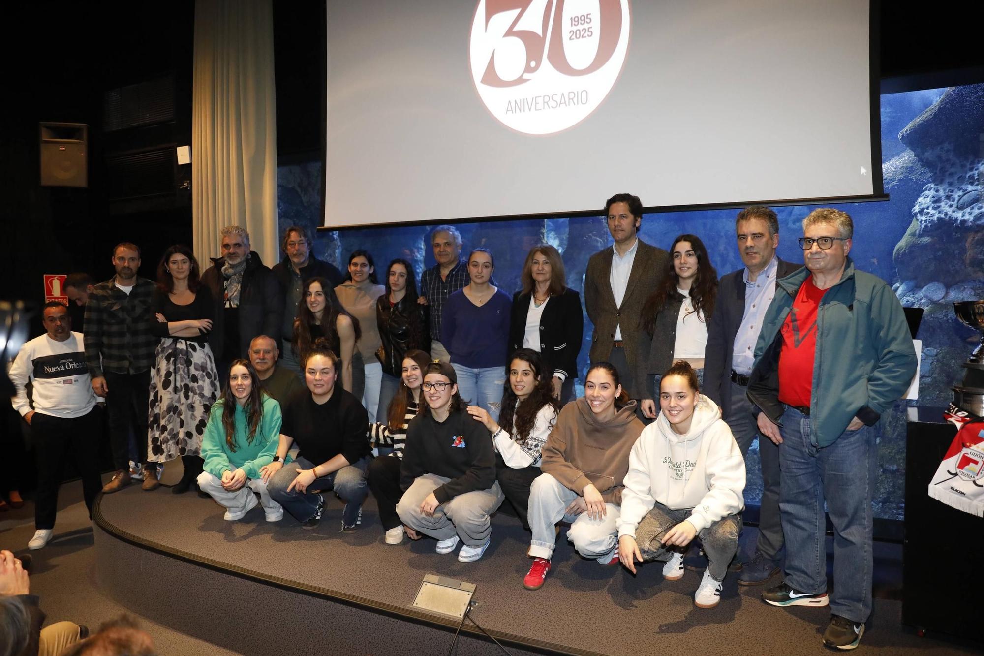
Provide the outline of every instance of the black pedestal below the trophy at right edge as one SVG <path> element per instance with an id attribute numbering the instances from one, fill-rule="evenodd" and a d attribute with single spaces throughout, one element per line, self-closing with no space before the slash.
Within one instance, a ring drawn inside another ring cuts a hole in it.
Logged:
<path id="1" fill-rule="evenodd" d="M 984 518 L 927 492 L 956 427 L 943 408 L 910 408 L 905 439 L 902 623 L 981 642 Z"/>

